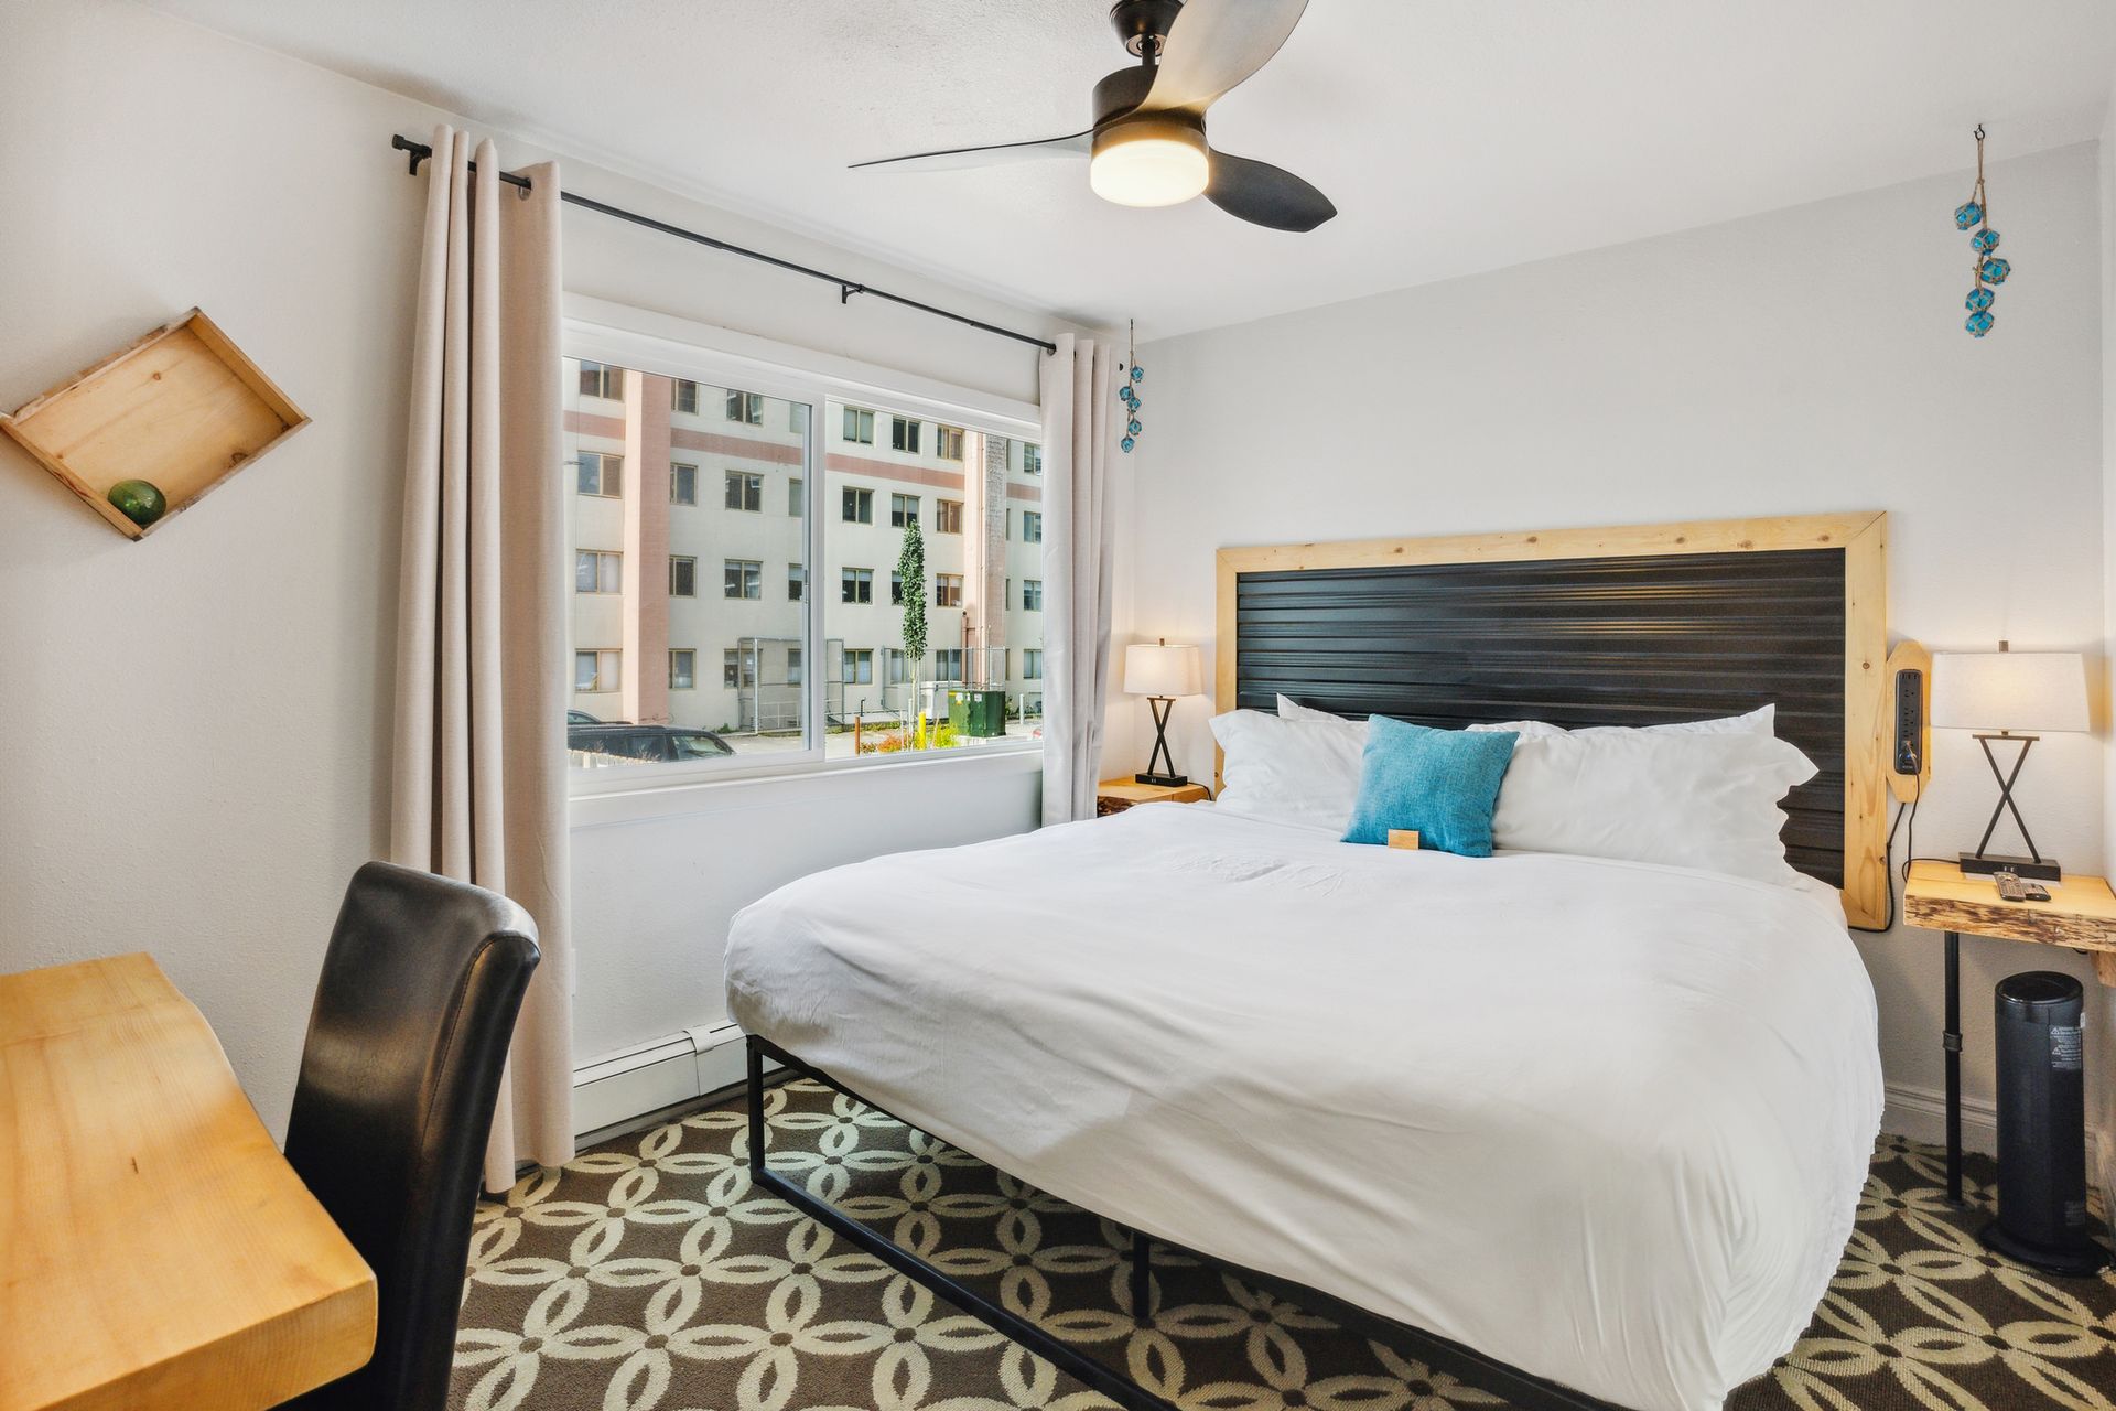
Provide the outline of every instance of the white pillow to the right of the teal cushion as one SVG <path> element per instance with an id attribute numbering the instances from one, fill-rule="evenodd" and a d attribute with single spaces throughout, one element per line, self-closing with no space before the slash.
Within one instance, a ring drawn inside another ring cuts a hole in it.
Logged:
<path id="1" fill-rule="evenodd" d="M 1581 730 L 1524 738 L 1498 789 L 1492 846 L 1729 872 L 1796 884 L 1777 829 L 1816 776 L 1763 734 Z"/>

